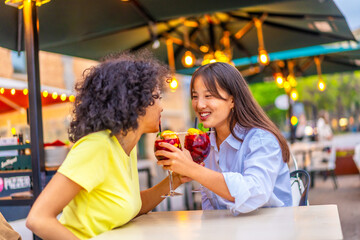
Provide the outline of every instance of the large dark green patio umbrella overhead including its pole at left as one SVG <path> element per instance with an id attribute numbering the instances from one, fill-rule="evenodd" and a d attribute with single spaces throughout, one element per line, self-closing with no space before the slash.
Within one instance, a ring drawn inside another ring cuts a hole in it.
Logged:
<path id="1" fill-rule="evenodd" d="M 12 1 L 10 0 L 10 2 Z M 307 38 L 297 33 L 292 38 L 286 38 L 286 48 L 288 49 L 299 46 L 298 42 L 300 42 L 301 46 L 306 46 L 314 43 L 320 44 L 353 38 L 345 19 L 336 5 L 330 0 L 322 2 L 317 0 L 53 0 L 39 8 L 39 18 L 37 18 L 35 2 L 41 5 L 40 0 L 24 0 L 23 10 L 20 11 L 5 6 L 4 2 L 0 3 L 0 46 L 18 51 L 25 48 L 27 53 L 31 157 L 33 160 L 33 191 L 35 198 L 41 192 L 40 169 L 44 169 L 39 49 L 71 56 L 99 59 L 113 51 L 150 47 L 156 40 L 164 41 L 169 39 L 168 34 L 185 36 L 186 34 L 178 29 L 178 27 L 181 28 L 184 25 L 184 20 L 180 17 L 211 14 L 217 11 L 225 12 L 229 19 L 238 19 L 241 21 L 241 25 L 246 25 L 246 21 L 253 21 L 253 16 L 258 17 L 262 22 L 269 21 L 271 26 L 268 30 L 264 28 L 264 33 L 268 32 L 270 36 L 264 34 L 264 38 L 265 40 L 271 38 L 269 41 L 276 40 L 279 46 L 283 44 L 282 39 L 287 37 L 290 32 L 304 30 L 312 35 L 312 37 Z M 279 5 L 271 5 L 270 3 L 279 3 Z M 300 5 L 297 5 L 298 3 Z M 244 13 L 236 11 L 239 8 L 248 6 L 256 7 Z M 271 9 L 273 11 L 270 11 Z M 297 9 L 302 9 L 300 14 Z M 269 11 L 270 14 L 264 15 L 264 10 Z M 310 19 L 308 19 L 306 13 L 310 14 Z M 274 18 L 272 15 L 274 15 Z M 290 18 L 286 18 L 287 16 L 290 16 Z M 39 24 L 37 25 L 38 19 Z M 211 17 L 211 19 L 215 18 Z M 303 23 L 297 21 L 298 19 L 303 20 Z M 319 23 L 316 23 L 317 20 L 320 20 Z M 284 26 L 284 21 L 291 22 L 290 26 Z M 220 24 L 221 29 L 223 29 L 222 25 L 224 24 Z M 279 29 L 290 29 L 290 31 L 274 32 L 276 26 L 279 26 Z M 237 28 L 233 27 L 232 24 L 225 24 L 224 27 L 230 30 Z M 38 35 L 38 28 L 40 28 L 40 35 Z M 24 32 L 22 29 L 24 29 Z M 196 29 L 194 27 L 195 33 Z M 218 30 L 215 30 L 213 24 L 210 24 L 208 29 L 211 32 L 209 33 L 210 39 L 213 39 L 210 46 L 215 48 L 214 36 Z M 191 30 L 191 32 L 193 31 Z M 187 35 L 190 38 L 191 32 Z M 243 36 L 251 37 L 255 35 L 254 33 L 252 29 L 246 31 Z M 24 42 L 23 35 L 25 36 Z M 173 42 L 177 41 L 176 35 L 172 38 Z M 245 41 L 242 38 L 239 38 L 240 40 Z M 253 54 L 249 53 L 249 51 L 258 48 L 254 44 L 256 42 L 254 37 L 250 38 L 249 46 L 244 46 L 245 44 L 239 41 L 233 41 L 237 47 L 237 49 L 234 49 L 234 55 L 236 52 L 243 52 L 246 56 L 250 56 Z M 182 42 L 185 41 L 182 40 Z M 266 44 L 269 44 L 266 47 L 271 46 L 268 41 L 266 41 Z M 188 47 L 187 44 L 179 43 L 179 49 L 175 49 L 174 55 L 177 55 L 174 56 L 176 58 L 174 62 L 177 63 L 176 68 L 181 66 L 178 63 L 184 47 Z M 283 48 L 280 49 L 284 50 Z M 160 44 L 160 47 L 156 50 L 156 55 L 160 59 L 165 59 L 165 61 L 171 60 L 171 57 L 167 59 L 166 50 L 168 49 L 164 47 L 164 44 Z"/>

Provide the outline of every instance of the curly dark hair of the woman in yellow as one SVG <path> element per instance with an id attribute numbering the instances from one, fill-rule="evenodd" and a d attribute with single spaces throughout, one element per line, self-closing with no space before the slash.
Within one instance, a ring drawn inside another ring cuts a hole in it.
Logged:
<path id="1" fill-rule="evenodd" d="M 105 129 L 124 135 L 136 130 L 138 117 L 154 104 L 154 90 L 161 90 L 169 76 L 168 68 L 148 51 L 109 55 L 86 69 L 84 81 L 75 85 L 70 141 Z"/>

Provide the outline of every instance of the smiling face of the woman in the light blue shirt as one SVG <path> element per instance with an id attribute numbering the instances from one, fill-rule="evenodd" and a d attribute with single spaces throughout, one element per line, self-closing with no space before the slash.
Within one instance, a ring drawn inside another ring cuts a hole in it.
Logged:
<path id="1" fill-rule="evenodd" d="M 217 91 L 223 98 L 217 98 L 206 88 L 201 76 L 194 80 L 191 102 L 192 107 L 206 128 L 215 128 L 217 132 L 229 131 L 229 114 L 234 107 L 233 97 L 217 85 Z"/>

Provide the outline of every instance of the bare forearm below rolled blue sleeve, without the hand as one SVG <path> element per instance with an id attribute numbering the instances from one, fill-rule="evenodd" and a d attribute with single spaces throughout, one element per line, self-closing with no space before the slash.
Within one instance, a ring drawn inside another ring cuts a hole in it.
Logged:
<path id="1" fill-rule="evenodd" d="M 235 201 L 235 198 L 231 196 L 224 176 L 221 173 L 198 165 L 191 168 L 188 177 L 199 182 L 201 185 L 216 193 L 220 197 L 232 202 Z"/>

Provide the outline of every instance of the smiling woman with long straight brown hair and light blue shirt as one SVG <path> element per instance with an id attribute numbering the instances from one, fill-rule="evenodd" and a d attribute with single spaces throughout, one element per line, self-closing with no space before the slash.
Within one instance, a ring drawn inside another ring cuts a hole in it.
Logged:
<path id="1" fill-rule="evenodd" d="M 188 176 L 202 188 L 203 209 L 230 209 L 234 215 L 259 207 L 292 205 L 289 148 L 279 129 L 251 94 L 240 72 L 227 63 L 200 67 L 192 76 L 192 107 L 212 128 L 205 168 L 170 144 L 157 151 L 164 169 Z"/>

